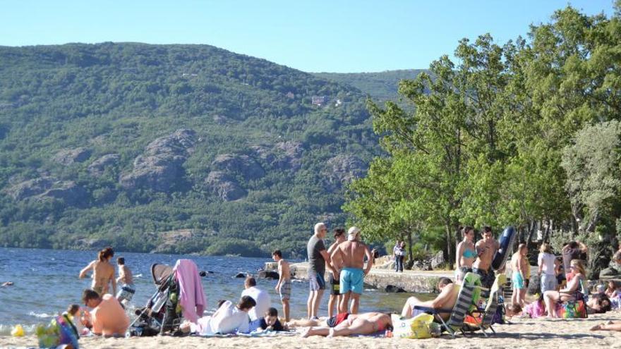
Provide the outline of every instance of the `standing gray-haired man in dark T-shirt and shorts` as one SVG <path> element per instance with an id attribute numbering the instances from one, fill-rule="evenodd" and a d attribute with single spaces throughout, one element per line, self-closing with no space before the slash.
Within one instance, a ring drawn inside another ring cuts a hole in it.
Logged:
<path id="1" fill-rule="evenodd" d="M 327 254 L 323 238 L 327 233 L 327 227 L 323 223 L 315 224 L 315 233 L 308 240 L 306 251 L 308 252 L 308 281 L 310 294 L 306 302 L 308 319 L 318 319 L 319 304 L 325 290 L 325 268 L 330 267 L 330 255 Z"/>

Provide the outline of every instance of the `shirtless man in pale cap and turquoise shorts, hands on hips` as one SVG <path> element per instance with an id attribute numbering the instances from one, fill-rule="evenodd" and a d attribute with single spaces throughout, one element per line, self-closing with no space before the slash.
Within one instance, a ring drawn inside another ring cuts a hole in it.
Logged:
<path id="1" fill-rule="evenodd" d="M 332 252 L 330 260 L 332 261 L 332 269 L 334 276 L 339 275 L 341 302 L 339 304 L 339 312 L 346 312 L 349 298 L 352 298 L 350 314 L 358 313 L 358 305 L 360 305 L 360 295 L 363 291 L 364 276 L 368 274 L 373 267 L 373 255 L 367 245 L 362 243 L 358 235 L 360 229 L 352 226 L 347 231 L 347 241 L 339 244 Z M 364 256 L 366 255 L 367 264 L 364 267 Z"/>

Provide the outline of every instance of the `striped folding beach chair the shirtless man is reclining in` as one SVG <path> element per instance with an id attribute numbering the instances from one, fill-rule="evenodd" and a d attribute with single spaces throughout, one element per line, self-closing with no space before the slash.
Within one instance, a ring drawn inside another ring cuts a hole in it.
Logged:
<path id="1" fill-rule="evenodd" d="M 471 275 L 469 276 L 469 274 Z M 457 331 L 462 332 L 465 336 L 466 333 L 464 332 L 464 329 L 466 329 L 466 325 L 464 324 L 464 319 L 466 318 L 466 314 L 471 313 L 471 309 L 478 301 L 478 295 L 481 293 L 481 290 L 484 290 L 484 288 L 482 288 L 481 286 L 476 286 L 474 284 L 477 281 L 478 276 L 476 276 L 476 274 L 466 274 L 466 278 L 464 278 L 462 288 L 459 290 L 459 295 L 457 295 L 457 302 L 455 302 L 452 310 L 433 309 L 431 307 L 421 307 L 418 305 L 414 306 L 414 310 L 421 310 L 423 312 L 427 312 L 428 314 L 432 314 L 435 319 L 438 319 L 438 321 L 440 321 L 440 323 L 442 324 L 442 329 L 446 330 L 452 336 L 452 338 L 455 338 L 455 333 L 457 333 Z M 442 319 L 442 317 L 440 316 L 440 313 L 447 312 L 450 313 L 451 316 L 449 317 L 448 321 L 445 322 L 444 319 Z"/>

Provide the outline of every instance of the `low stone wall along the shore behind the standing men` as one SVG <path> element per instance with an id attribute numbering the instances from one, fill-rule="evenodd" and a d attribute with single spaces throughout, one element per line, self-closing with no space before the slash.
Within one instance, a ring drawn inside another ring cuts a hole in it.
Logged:
<path id="1" fill-rule="evenodd" d="M 308 262 L 291 264 L 291 277 L 299 280 L 308 280 Z M 265 263 L 266 270 L 277 270 L 275 262 Z M 450 271 L 411 271 L 397 273 L 391 269 L 372 268 L 364 278 L 367 286 L 373 286 L 382 290 L 398 290 L 413 293 L 433 293 L 435 286 L 441 277 L 452 278 Z M 326 275 L 327 280 L 327 275 Z"/>

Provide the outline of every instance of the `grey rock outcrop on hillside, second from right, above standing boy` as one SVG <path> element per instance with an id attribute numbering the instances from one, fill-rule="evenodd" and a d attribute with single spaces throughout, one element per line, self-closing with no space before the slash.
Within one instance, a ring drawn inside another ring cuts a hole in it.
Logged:
<path id="1" fill-rule="evenodd" d="M 273 147 L 255 145 L 251 147 L 260 159 L 279 170 L 300 169 L 304 147 L 301 142 L 278 142 Z"/>

